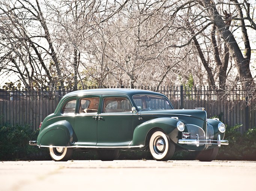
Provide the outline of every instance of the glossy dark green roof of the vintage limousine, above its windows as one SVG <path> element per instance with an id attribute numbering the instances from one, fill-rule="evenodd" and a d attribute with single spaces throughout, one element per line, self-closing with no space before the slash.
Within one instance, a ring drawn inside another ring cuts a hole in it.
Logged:
<path id="1" fill-rule="evenodd" d="M 129 97 L 132 97 L 133 95 L 140 95 L 140 94 L 163 96 L 163 94 L 160 94 L 154 91 L 149 91 L 149 90 L 128 89 L 128 88 L 99 88 L 99 89 L 73 91 L 64 95 L 64 97 L 86 95 L 86 94 L 124 94 L 124 95 L 128 95 Z"/>

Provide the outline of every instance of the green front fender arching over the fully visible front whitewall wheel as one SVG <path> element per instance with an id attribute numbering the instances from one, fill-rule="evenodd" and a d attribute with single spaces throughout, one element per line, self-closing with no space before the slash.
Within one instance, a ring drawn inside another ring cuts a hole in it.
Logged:
<path id="1" fill-rule="evenodd" d="M 177 119 L 174 118 L 156 118 L 148 120 L 138 125 L 133 132 L 133 140 L 131 146 L 145 145 L 147 141 L 147 135 L 151 133 L 154 128 L 162 129 L 169 135 L 174 143 L 178 142 L 178 129 Z"/>

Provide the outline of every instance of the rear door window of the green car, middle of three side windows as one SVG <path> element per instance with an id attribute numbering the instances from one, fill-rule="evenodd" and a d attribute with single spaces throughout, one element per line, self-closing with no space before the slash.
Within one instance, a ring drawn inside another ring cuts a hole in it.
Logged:
<path id="1" fill-rule="evenodd" d="M 99 102 L 99 97 L 82 98 L 80 100 L 79 113 L 97 113 Z"/>

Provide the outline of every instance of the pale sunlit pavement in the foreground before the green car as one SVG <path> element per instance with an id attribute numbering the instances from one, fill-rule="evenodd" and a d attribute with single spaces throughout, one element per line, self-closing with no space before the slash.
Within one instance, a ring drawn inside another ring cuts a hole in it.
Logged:
<path id="1" fill-rule="evenodd" d="M 256 162 L 0 162 L 1 191 L 255 191 Z"/>

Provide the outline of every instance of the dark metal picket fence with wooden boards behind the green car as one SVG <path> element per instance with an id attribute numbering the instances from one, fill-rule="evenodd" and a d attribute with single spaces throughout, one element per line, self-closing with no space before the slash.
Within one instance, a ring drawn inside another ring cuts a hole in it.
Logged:
<path id="1" fill-rule="evenodd" d="M 94 89 L 99 87 L 86 87 Z M 118 87 L 108 87 L 118 88 Z M 129 88 L 129 87 L 121 87 Z M 175 109 L 204 107 L 208 118 L 218 116 L 225 124 L 241 124 L 244 132 L 256 126 L 256 100 L 245 96 L 241 87 L 225 90 L 210 87 L 134 87 L 165 94 Z M 36 130 L 40 122 L 53 113 L 64 94 L 72 90 L 2 90 L 0 89 L 0 125 L 30 125 Z"/>

